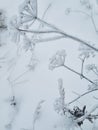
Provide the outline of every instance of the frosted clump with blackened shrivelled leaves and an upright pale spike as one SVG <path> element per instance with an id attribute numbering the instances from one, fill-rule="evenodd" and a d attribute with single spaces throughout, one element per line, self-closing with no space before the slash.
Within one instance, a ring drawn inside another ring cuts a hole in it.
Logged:
<path id="1" fill-rule="evenodd" d="M 86 105 L 84 105 L 82 108 L 78 106 L 74 106 L 73 109 L 70 108 L 70 103 L 65 104 L 65 91 L 63 88 L 62 79 L 59 79 L 58 83 L 60 97 L 55 100 L 55 111 L 59 113 L 62 117 L 65 117 L 65 120 L 70 119 L 69 121 L 71 121 L 71 123 L 73 124 L 72 127 L 81 127 L 85 120 L 93 123 L 93 121 L 97 119 L 97 115 L 92 114 L 92 112 L 94 112 L 98 108 L 98 105 L 92 107 L 90 111 L 87 111 Z M 80 95 L 79 97 L 82 96 Z"/>

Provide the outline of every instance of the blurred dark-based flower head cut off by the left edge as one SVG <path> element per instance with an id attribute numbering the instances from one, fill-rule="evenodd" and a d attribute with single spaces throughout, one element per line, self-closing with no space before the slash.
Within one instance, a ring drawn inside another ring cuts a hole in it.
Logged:
<path id="1" fill-rule="evenodd" d="M 0 29 L 5 29 L 6 27 L 7 27 L 6 12 L 0 9 Z"/>

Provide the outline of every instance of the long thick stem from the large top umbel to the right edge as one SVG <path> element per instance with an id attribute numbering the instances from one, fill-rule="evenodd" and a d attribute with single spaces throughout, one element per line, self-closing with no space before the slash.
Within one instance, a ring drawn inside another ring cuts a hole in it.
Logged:
<path id="1" fill-rule="evenodd" d="M 84 44 L 84 45 L 90 47 L 91 49 L 95 50 L 96 52 L 98 52 L 98 49 L 97 49 L 97 48 L 95 48 L 95 47 L 89 45 L 86 41 L 84 41 L 84 40 L 82 40 L 82 39 L 80 39 L 80 38 L 78 38 L 78 37 L 69 35 L 69 34 L 65 33 L 64 31 L 62 31 L 61 29 L 55 27 L 54 25 L 52 25 L 52 24 L 50 24 L 50 23 L 47 23 L 46 21 L 41 20 L 40 18 L 37 18 L 37 20 L 40 21 L 40 22 L 42 22 L 42 23 L 44 23 L 44 24 L 46 24 L 47 26 L 53 28 L 54 30 L 56 30 L 56 33 L 59 33 L 59 34 L 65 36 L 66 38 L 70 38 L 70 39 L 72 39 L 72 40 L 74 40 L 74 41 L 80 42 L 80 43 L 82 43 L 82 44 Z M 55 31 L 54 31 L 54 32 L 55 32 Z"/>

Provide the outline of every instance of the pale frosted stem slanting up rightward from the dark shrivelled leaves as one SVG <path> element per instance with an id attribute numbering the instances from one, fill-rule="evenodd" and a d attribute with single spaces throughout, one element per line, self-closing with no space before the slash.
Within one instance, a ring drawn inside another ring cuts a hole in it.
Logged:
<path id="1" fill-rule="evenodd" d="M 78 118 L 78 119 L 76 120 L 76 122 L 78 123 L 78 122 L 84 121 L 85 119 L 88 119 L 89 115 L 90 115 L 92 112 L 94 112 L 96 109 L 98 109 L 98 104 L 95 105 L 89 112 L 85 113 L 84 116 L 82 116 L 81 118 Z"/>

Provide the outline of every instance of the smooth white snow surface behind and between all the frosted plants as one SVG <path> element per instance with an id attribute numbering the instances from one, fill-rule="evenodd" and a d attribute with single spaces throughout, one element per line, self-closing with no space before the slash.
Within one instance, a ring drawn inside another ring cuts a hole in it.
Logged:
<path id="1" fill-rule="evenodd" d="M 0 9 L 7 13 L 7 20 L 18 14 L 19 6 L 24 0 L 0 0 Z M 96 0 L 90 0 L 93 5 L 94 18 L 98 28 L 98 5 Z M 91 19 L 81 13 L 70 13 L 66 15 L 66 9 L 86 10 L 81 6 L 79 0 L 38 0 L 38 16 L 41 18 L 47 6 L 51 4 L 45 20 L 65 32 L 80 37 L 86 41 L 91 41 L 98 48 L 98 34 L 95 32 Z M 32 130 L 33 115 L 39 101 L 45 100 L 41 108 L 41 116 L 35 123 L 35 130 L 67 130 L 68 122 L 61 118 L 54 110 L 54 102 L 59 97 L 58 79 L 63 79 L 65 88 L 66 103 L 77 97 L 73 91 L 83 93 L 87 90 L 89 82 L 66 70 L 63 67 L 49 70 L 49 59 L 56 51 L 66 50 L 66 64 L 77 71 L 81 69 L 81 60 L 79 59 L 78 48 L 80 43 L 71 39 L 61 39 L 50 42 L 38 43 L 34 48 L 34 59 L 36 66 L 34 70 L 28 71 L 28 64 L 31 58 L 30 51 L 22 51 L 17 56 L 16 43 L 9 38 L 9 32 L 3 34 L 0 32 L 1 43 L 0 57 L 5 56 L 3 62 L 0 62 L 0 130 Z M 96 58 L 90 58 L 86 64 L 95 63 L 98 65 L 98 53 Z M 8 81 L 13 81 L 19 75 L 21 76 L 17 83 L 11 89 Z M 85 72 L 88 76 L 88 73 Z M 89 78 L 93 79 L 92 73 Z M 10 98 L 15 95 L 17 106 L 10 105 Z M 98 103 L 93 96 L 98 97 L 94 92 L 89 96 L 84 96 L 74 105 L 83 107 L 87 105 L 90 109 Z M 8 124 L 12 121 L 12 126 Z M 98 124 L 98 122 L 96 123 Z M 84 122 L 83 130 L 92 130 L 90 122 Z M 97 127 L 98 128 L 98 127 Z M 75 128 L 79 129 L 79 128 Z M 97 129 L 96 129 L 97 130 Z"/>

